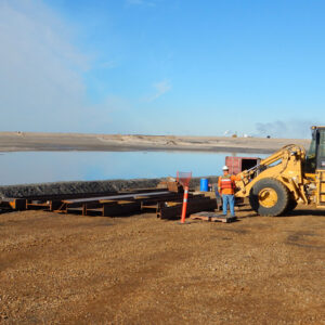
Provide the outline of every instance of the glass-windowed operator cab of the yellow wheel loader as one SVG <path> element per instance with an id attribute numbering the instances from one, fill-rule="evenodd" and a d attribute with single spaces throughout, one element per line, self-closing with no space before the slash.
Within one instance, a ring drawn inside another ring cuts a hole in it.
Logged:
<path id="1" fill-rule="evenodd" d="M 306 157 L 304 172 L 325 170 L 325 127 L 312 127 L 312 141 Z"/>

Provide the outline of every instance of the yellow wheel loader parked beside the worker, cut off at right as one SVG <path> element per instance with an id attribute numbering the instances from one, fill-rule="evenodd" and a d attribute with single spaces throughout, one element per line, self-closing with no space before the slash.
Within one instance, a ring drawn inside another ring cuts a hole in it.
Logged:
<path id="1" fill-rule="evenodd" d="M 325 127 L 312 127 L 308 153 L 289 144 L 238 176 L 235 196 L 260 216 L 286 214 L 298 203 L 325 208 Z"/>

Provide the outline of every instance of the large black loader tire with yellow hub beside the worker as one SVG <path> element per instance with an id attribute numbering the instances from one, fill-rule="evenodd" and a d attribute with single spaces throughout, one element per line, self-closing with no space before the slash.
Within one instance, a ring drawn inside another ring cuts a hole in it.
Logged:
<path id="1" fill-rule="evenodd" d="M 276 179 L 262 179 L 252 186 L 249 203 L 260 216 L 277 217 L 288 207 L 289 191 Z"/>

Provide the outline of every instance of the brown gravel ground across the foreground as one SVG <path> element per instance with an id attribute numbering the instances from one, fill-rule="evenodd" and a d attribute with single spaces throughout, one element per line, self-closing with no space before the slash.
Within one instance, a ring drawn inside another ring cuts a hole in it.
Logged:
<path id="1" fill-rule="evenodd" d="M 0 323 L 325 324 L 324 214 L 1 214 Z"/>

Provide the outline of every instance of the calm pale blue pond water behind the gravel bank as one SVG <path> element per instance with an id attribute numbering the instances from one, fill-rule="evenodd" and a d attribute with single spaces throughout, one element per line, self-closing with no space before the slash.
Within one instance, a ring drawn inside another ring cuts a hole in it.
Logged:
<path id="1" fill-rule="evenodd" d="M 174 177 L 177 170 L 192 171 L 194 177 L 219 174 L 225 156 L 182 152 L 3 153 L 0 184 Z"/>

